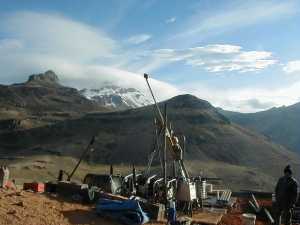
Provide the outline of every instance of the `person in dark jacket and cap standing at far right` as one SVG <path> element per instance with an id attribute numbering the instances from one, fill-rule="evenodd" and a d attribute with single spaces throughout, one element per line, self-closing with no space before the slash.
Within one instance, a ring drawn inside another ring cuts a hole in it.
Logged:
<path id="1" fill-rule="evenodd" d="M 275 224 L 281 224 L 281 217 L 285 225 L 291 225 L 292 209 L 298 198 L 298 182 L 292 176 L 290 165 L 284 169 L 284 176 L 279 178 L 275 188 L 276 218 Z"/>

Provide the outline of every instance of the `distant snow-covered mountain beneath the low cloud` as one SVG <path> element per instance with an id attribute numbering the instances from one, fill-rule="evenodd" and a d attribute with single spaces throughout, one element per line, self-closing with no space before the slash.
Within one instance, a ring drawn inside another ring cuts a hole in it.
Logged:
<path id="1" fill-rule="evenodd" d="M 107 85 L 99 89 L 83 89 L 80 93 L 87 99 L 114 110 L 138 108 L 153 102 L 135 88 L 122 88 L 115 85 Z"/>

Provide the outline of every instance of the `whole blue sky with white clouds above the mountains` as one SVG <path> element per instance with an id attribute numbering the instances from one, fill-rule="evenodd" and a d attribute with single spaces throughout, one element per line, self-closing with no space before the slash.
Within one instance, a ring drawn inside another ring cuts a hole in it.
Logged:
<path id="1" fill-rule="evenodd" d="M 257 112 L 300 101 L 300 1 L 0 0 L 0 83 L 55 71 Z"/>

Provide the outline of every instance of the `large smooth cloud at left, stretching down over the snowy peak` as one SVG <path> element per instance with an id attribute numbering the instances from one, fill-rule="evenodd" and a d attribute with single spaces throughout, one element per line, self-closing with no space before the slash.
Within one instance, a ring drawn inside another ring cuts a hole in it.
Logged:
<path id="1" fill-rule="evenodd" d="M 65 85 L 98 88 L 107 83 L 145 91 L 142 74 L 118 69 L 122 46 L 105 32 L 57 14 L 17 12 L 0 18 L 0 82 L 23 82 L 32 73 L 54 70 Z M 125 54 L 126 56 L 126 54 Z M 159 99 L 178 90 L 152 79 Z"/>

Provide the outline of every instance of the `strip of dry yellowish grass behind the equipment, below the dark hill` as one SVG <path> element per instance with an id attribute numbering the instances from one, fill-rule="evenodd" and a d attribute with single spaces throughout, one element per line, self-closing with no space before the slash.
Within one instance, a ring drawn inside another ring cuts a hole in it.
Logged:
<path id="1" fill-rule="evenodd" d="M 11 178 L 17 184 L 32 181 L 54 181 L 60 169 L 70 173 L 77 163 L 77 159 L 67 156 L 31 156 L 23 159 L 5 160 L 1 164 L 9 165 Z M 258 168 L 231 165 L 216 161 L 188 161 L 188 171 L 192 175 L 205 177 L 218 177 L 223 180 L 223 185 L 234 191 L 241 189 L 253 189 L 262 191 L 273 191 L 277 178 L 262 173 Z M 137 166 L 137 171 L 143 171 L 145 167 Z M 82 181 L 87 173 L 104 174 L 109 173 L 110 165 L 88 164 L 82 162 L 72 178 L 74 181 Z M 159 173 L 159 167 L 153 168 Z M 132 172 L 131 165 L 114 165 L 114 173 L 126 175 Z M 278 175 L 279 176 L 279 175 Z"/>

